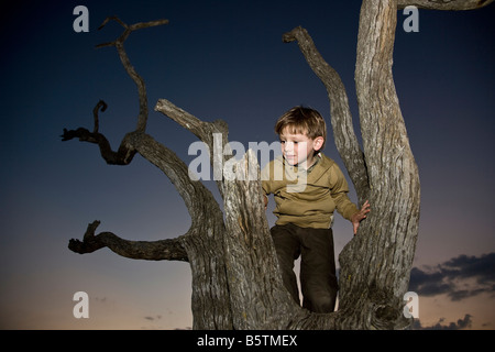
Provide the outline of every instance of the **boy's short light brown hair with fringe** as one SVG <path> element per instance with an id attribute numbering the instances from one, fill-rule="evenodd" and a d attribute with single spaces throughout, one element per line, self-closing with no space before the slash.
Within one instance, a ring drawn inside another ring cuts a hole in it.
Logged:
<path id="1" fill-rule="evenodd" d="M 292 108 L 278 118 L 275 124 L 275 133 L 280 135 L 285 128 L 288 128 L 293 134 L 305 134 L 311 140 L 322 136 L 323 144 L 320 150 L 324 147 L 324 143 L 327 142 L 327 124 L 317 110 L 305 107 Z"/>

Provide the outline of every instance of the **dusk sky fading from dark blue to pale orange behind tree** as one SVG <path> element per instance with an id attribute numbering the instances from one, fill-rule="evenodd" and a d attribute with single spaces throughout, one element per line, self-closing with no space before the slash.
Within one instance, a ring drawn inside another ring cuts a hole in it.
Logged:
<path id="1" fill-rule="evenodd" d="M 89 32 L 76 33 L 76 6 Z M 184 329 L 193 326 L 188 263 L 121 257 L 108 249 L 68 250 L 86 227 L 129 240 L 187 232 L 183 199 L 141 156 L 110 166 L 96 145 L 62 142 L 63 129 L 92 129 L 117 150 L 139 111 L 134 82 L 114 47 L 116 22 L 168 19 L 134 32 L 129 57 L 146 82 L 147 133 L 186 163 L 197 139 L 153 107 L 161 98 L 199 119 L 223 119 L 230 141 L 276 140 L 289 108 L 318 109 L 330 129 L 323 85 L 295 43 L 302 25 L 341 75 L 359 128 L 354 89 L 361 1 L 16 1 L 0 11 L 1 174 L 0 329 Z M 397 14 L 394 78 L 419 165 L 421 215 L 410 290 L 419 295 L 415 328 L 495 329 L 495 6 L 463 12 L 419 11 L 419 32 Z M 344 169 L 329 133 L 324 153 Z M 348 175 L 345 174 L 348 177 Z M 349 177 L 348 177 L 348 180 Z M 208 187 L 213 189 L 211 183 Z M 351 199 L 356 201 L 351 191 Z M 275 218 L 268 209 L 268 222 Z M 336 251 L 352 227 L 336 217 Z M 89 296 L 76 319 L 73 296 Z"/>

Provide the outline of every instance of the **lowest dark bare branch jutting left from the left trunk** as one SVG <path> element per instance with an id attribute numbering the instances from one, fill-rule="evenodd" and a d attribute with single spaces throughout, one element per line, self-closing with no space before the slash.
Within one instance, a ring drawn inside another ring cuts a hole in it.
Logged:
<path id="1" fill-rule="evenodd" d="M 119 255 L 133 260 L 188 261 L 186 250 L 180 243 L 180 238 L 146 242 L 123 240 L 112 232 L 101 232 L 95 235 L 95 231 L 99 224 L 100 221 L 98 220 L 89 223 L 82 242 L 72 239 L 68 244 L 69 250 L 85 254 L 108 248 Z"/>

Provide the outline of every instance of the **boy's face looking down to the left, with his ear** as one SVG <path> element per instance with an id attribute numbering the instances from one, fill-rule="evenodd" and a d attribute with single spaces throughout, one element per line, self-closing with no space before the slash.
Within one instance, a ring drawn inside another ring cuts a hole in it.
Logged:
<path id="1" fill-rule="evenodd" d="M 279 135 L 282 154 L 289 165 L 308 168 L 314 164 L 315 152 L 321 148 L 323 138 L 318 136 L 311 140 L 306 134 L 294 134 L 289 131 L 285 128 Z"/>

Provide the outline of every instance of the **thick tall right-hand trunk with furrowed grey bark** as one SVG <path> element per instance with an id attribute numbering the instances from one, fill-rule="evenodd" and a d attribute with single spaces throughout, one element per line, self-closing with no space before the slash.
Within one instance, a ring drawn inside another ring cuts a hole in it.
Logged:
<path id="1" fill-rule="evenodd" d="M 340 255 L 342 309 L 360 307 L 361 328 L 405 326 L 419 223 L 419 176 L 392 75 L 397 8 L 363 1 L 355 85 L 373 211 Z"/>

